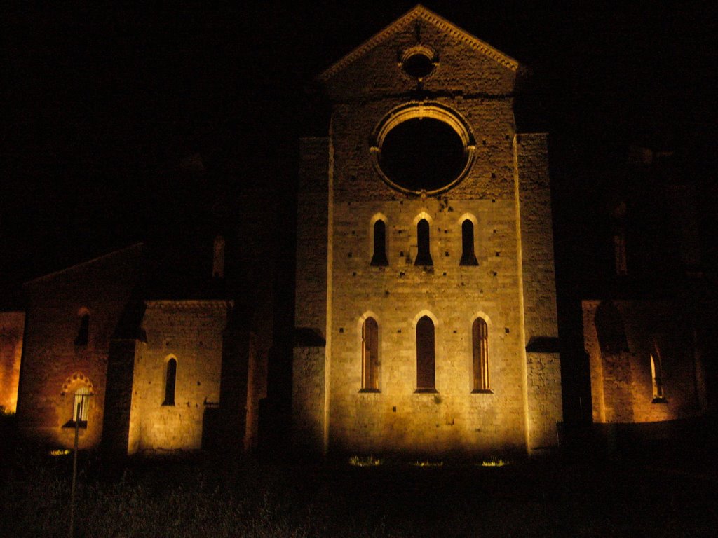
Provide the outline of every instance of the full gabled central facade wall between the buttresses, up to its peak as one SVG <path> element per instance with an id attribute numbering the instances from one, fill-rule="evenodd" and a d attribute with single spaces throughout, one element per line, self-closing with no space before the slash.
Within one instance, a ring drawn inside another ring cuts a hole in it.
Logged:
<path id="1" fill-rule="evenodd" d="M 432 24 L 421 43 L 439 63 L 422 86 L 470 126 L 471 168 L 446 194 L 425 199 L 386 184 L 371 162 L 371 134 L 416 80 L 396 58 L 416 44 L 409 25 L 328 81 L 335 166 L 330 311 L 330 449 L 425 454 L 526 449 L 526 367 L 514 200 L 516 72 Z M 372 267 L 372 225 L 386 222 L 388 267 Z M 414 265 L 416 222 L 430 228 L 434 265 Z M 479 265 L 460 266 L 463 220 L 475 222 Z M 550 220 L 548 233 L 551 233 Z M 552 256 L 552 253 L 551 253 Z M 436 390 L 416 393 L 416 322 L 434 321 Z M 361 326 L 379 326 L 378 393 L 361 388 Z M 488 324 L 490 388 L 472 393 L 472 322 Z M 553 386 L 553 385 L 552 385 Z M 560 393 L 559 393 L 560 394 Z M 555 425 L 555 422 L 554 422 Z"/>

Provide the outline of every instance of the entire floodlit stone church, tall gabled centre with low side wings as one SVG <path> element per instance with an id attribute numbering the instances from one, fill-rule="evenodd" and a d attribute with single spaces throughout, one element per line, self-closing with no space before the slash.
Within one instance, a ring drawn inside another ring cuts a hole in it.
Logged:
<path id="1" fill-rule="evenodd" d="M 556 447 L 576 402 L 562 395 L 547 136 L 517 131 L 522 75 L 416 6 L 319 77 L 332 115 L 327 136 L 299 141 L 294 334 L 278 291 L 291 289 L 274 233 L 286 222 L 267 220 L 286 214 L 278 197 L 247 187 L 218 227 L 208 195 L 210 217 L 189 223 L 206 248 L 134 245 L 24 285 L 24 308 L 0 312 L 0 411 L 17 410 L 31 440 L 69 448 L 77 425 L 80 448 L 118 456 L 247 450 L 289 429 L 295 448 L 324 454 Z M 684 208 L 682 265 L 663 271 L 686 277 L 678 296 L 628 285 L 576 298 L 594 423 L 717 401 L 697 225 L 685 196 L 664 198 Z M 615 272 L 631 284 L 621 215 Z M 187 260 L 201 278 L 180 276 Z"/>

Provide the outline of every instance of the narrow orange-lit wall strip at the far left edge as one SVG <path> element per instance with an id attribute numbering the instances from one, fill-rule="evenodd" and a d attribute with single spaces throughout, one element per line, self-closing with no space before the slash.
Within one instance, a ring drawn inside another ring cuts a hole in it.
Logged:
<path id="1" fill-rule="evenodd" d="M 0 407 L 15 412 L 20 378 L 24 312 L 0 312 Z"/>

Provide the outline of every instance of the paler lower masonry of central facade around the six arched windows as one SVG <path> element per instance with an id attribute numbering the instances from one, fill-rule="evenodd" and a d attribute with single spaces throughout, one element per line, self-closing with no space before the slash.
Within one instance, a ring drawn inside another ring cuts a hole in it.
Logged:
<path id="1" fill-rule="evenodd" d="M 370 219 L 387 216 L 388 267 L 372 267 Z M 475 215 L 478 266 L 460 266 L 461 217 Z M 337 204 L 330 448 L 467 453 L 521 450 L 523 368 L 513 202 Z M 413 265 L 417 215 L 431 219 L 434 265 Z M 434 319 L 438 394 L 415 394 L 416 321 Z M 361 323 L 379 326 L 379 394 L 361 388 Z M 471 325 L 489 329 L 493 394 L 472 394 Z"/>

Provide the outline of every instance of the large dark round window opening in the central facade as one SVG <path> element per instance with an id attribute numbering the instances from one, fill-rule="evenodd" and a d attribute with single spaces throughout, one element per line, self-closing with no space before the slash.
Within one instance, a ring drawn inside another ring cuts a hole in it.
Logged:
<path id="1" fill-rule="evenodd" d="M 433 192 L 456 181 L 468 155 L 459 134 L 435 118 L 410 118 L 386 133 L 379 167 L 398 187 Z"/>

